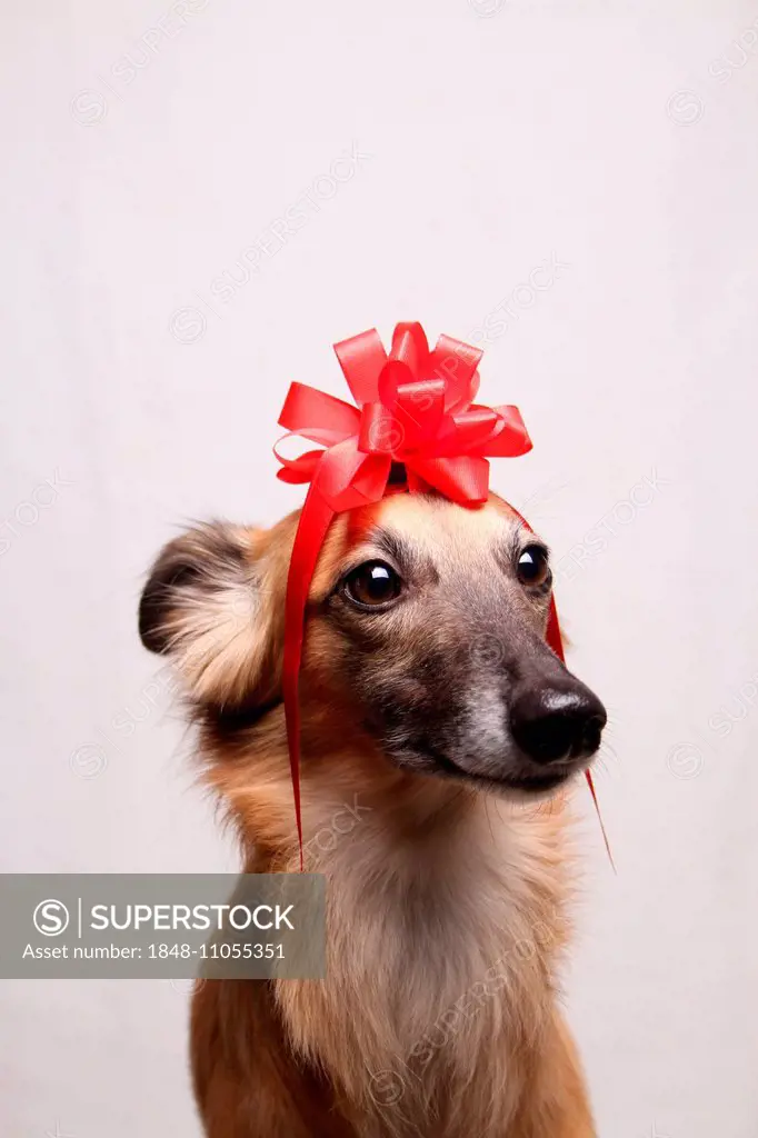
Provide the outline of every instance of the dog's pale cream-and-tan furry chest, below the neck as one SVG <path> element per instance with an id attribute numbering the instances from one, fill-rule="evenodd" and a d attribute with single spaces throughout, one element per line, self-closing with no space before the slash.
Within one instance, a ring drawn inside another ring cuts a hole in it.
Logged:
<path id="1" fill-rule="evenodd" d="M 304 1050 L 376 1114 L 378 1135 L 413 1133 L 403 1127 L 430 1112 L 440 1125 L 460 1111 L 473 1118 L 477 1103 L 492 1113 L 493 1096 L 505 1119 L 518 1080 L 504 1069 L 549 1007 L 557 894 L 535 875 L 534 836 L 472 824 L 419 846 L 415 863 L 368 826 L 361 839 L 319 867 L 329 971 L 307 997 Z"/>

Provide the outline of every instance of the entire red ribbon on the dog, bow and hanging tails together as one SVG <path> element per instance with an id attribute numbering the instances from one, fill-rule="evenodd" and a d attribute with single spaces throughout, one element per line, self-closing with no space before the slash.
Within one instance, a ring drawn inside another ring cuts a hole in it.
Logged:
<path id="1" fill-rule="evenodd" d="M 357 406 L 293 384 L 279 418 L 288 432 L 283 438 L 300 436 L 322 450 L 287 459 L 279 444 L 274 447 L 281 463 L 278 477 L 311 484 L 287 580 L 282 675 L 300 869 L 298 679 L 308 591 L 332 519 L 345 510 L 379 502 L 393 463 L 404 465 L 411 492 L 431 487 L 461 505 L 481 505 L 489 490 L 488 459 L 514 457 L 532 450 L 517 407 L 473 403 L 483 353 L 470 344 L 440 336 L 429 351 L 421 324 L 402 323 L 393 333 L 389 355 L 374 328 L 335 344 L 335 352 Z M 554 601 L 546 640 L 562 660 Z M 596 807 L 590 772 L 587 782 Z"/>

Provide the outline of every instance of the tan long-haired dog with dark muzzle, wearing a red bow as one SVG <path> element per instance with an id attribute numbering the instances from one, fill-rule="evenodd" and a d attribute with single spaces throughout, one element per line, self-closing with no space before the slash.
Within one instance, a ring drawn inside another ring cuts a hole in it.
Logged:
<path id="1" fill-rule="evenodd" d="M 246 873 L 299 868 L 281 694 L 297 521 L 191 529 L 140 604 Z M 562 791 L 605 711 L 545 643 L 551 584 L 546 547 L 494 494 L 468 509 L 390 493 L 333 521 L 300 673 L 328 974 L 196 990 L 208 1138 L 595 1135 L 557 965 L 574 880 Z"/>

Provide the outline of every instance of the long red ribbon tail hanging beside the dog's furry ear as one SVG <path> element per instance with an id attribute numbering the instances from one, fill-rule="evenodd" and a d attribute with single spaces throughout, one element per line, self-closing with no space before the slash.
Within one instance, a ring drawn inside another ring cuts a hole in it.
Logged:
<path id="1" fill-rule="evenodd" d="M 316 479 L 311 484 L 311 488 L 306 495 L 295 535 L 295 545 L 293 546 L 289 576 L 287 578 L 287 601 L 285 607 L 282 692 L 285 696 L 287 739 L 289 741 L 289 769 L 293 778 L 293 797 L 295 799 L 300 873 L 303 873 L 304 864 L 303 810 L 300 805 L 299 671 L 305 635 L 305 607 L 319 553 L 321 552 L 321 545 L 333 517 L 335 511 L 323 497 Z"/>

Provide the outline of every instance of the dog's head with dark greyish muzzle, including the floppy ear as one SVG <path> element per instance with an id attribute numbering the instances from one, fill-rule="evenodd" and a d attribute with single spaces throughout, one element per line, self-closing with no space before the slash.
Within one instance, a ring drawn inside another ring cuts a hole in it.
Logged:
<path id="1" fill-rule="evenodd" d="M 191 530 L 142 595 L 143 643 L 226 736 L 282 723 L 296 525 Z M 551 585 L 544 544 L 494 495 L 470 510 L 398 493 L 338 517 L 306 615 L 304 762 L 369 736 L 396 767 L 516 794 L 586 767 L 605 711 L 545 643 Z"/>

